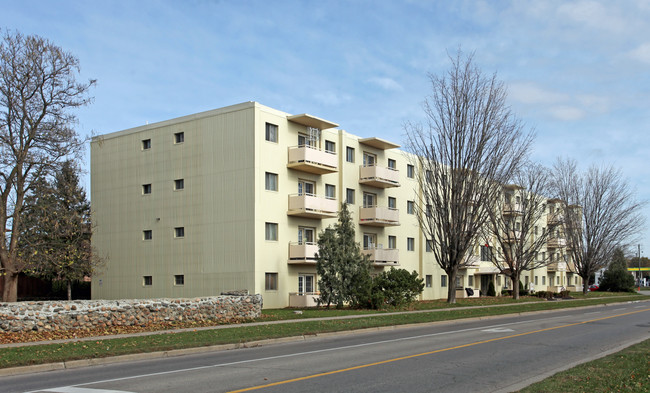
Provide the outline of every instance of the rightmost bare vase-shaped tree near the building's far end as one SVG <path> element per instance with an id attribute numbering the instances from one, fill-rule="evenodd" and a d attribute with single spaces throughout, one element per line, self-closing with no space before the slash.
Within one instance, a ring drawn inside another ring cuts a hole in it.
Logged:
<path id="1" fill-rule="evenodd" d="M 617 247 L 625 248 L 645 224 L 644 203 L 638 202 L 620 170 L 591 166 L 579 172 L 576 162 L 558 159 L 555 193 L 564 205 L 569 270 L 582 277 L 583 293 L 589 276 L 607 266 Z"/>

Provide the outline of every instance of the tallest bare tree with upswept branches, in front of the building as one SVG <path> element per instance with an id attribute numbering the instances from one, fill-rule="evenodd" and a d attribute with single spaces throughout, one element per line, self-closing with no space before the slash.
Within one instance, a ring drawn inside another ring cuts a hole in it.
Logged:
<path id="1" fill-rule="evenodd" d="M 416 215 L 449 278 L 447 301 L 456 302 L 458 269 L 489 211 L 522 162 L 533 139 L 506 105 L 506 88 L 484 75 L 472 55 L 451 57 L 442 77 L 429 75 L 426 126 L 407 123 L 406 149 L 418 167 Z"/>

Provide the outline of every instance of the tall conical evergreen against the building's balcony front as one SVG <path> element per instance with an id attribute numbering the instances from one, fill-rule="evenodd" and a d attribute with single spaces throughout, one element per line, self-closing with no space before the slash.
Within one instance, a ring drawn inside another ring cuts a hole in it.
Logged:
<path id="1" fill-rule="evenodd" d="M 337 308 L 345 303 L 358 307 L 370 286 L 370 263 L 355 241 L 352 216 L 343 203 L 334 228 L 328 227 L 318 238 L 316 271 L 320 290 L 319 304 Z"/>

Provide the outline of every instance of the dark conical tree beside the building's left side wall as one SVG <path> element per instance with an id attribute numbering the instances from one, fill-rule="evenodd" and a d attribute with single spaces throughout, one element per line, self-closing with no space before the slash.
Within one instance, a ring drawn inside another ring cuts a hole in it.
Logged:
<path id="1" fill-rule="evenodd" d="M 70 300 L 72 283 L 91 275 L 99 264 L 90 245 L 90 203 L 74 163 L 63 163 L 52 182 L 36 182 L 25 208 L 20 243 L 27 271 L 65 282 Z"/>

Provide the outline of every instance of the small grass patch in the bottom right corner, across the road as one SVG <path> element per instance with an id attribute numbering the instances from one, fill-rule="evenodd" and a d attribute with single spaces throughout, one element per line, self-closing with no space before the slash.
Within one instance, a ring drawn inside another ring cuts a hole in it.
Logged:
<path id="1" fill-rule="evenodd" d="M 559 372 L 521 393 L 650 391 L 650 339 L 620 352 Z"/>

